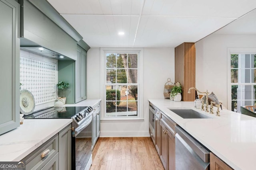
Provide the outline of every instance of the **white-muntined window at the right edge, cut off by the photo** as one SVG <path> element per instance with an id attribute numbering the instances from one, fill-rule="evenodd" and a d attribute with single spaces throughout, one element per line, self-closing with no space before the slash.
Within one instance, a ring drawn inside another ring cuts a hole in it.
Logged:
<path id="1" fill-rule="evenodd" d="M 230 53 L 231 110 L 240 112 L 240 106 L 256 104 L 256 53 Z"/>

